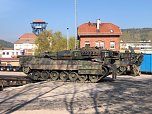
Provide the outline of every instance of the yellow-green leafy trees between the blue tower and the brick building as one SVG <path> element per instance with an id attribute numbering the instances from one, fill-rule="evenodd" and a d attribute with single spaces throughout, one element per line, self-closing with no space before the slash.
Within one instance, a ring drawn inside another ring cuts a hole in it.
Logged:
<path id="1" fill-rule="evenodd" d="M 44 31 L 37 37 L 35 44 L 35 55 L 46 51 L 58 52 L 67 49 L 67 39 L 61 32 Z M 73 50 L 74 45 L 75 39 L 74 37 L 70 37 L 69 49 Z"/>

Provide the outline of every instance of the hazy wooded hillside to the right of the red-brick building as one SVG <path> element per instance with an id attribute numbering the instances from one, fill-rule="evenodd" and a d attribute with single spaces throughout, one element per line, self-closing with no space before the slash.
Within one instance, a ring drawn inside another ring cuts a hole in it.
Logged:
<path id="1" fill-rule="evenodd" d="M 152 41 L 152 28 L 122 29 L 121 40 L 123 41 Z"/>

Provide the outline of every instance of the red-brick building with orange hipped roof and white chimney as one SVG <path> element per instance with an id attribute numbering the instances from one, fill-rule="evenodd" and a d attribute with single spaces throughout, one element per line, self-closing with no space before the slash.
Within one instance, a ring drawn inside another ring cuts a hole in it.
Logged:
<path id="1" fill-rule="evenodd" d="M 85 46 L 101 47 L 103 49 L 120 49 L 120 28 L 112 23 L 84 23 L 78 27 L 80 48 Z"/>

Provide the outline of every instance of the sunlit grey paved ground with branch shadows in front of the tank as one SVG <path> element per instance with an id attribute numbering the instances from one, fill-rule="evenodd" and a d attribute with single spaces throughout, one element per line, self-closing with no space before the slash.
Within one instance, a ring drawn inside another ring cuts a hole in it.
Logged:
<path id="1" fill-rule="evenodd" d="M 40 82 L 0 92 L 2 114 L 151 114 L 152 75 L 100 83 Z"/>

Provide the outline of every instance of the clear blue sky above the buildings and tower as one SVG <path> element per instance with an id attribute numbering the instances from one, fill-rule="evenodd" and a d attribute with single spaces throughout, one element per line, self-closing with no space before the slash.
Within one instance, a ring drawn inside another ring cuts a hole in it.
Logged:
<path id="1" fill-rule="evenodd" d="M 78 25 L 111 22 L 120 28 L 152 28 L 152 0 L 77 0 Z M 0 0 L 0 39 L 14 42 L 31 32 L 32 20 L 48 22 L 47 29 L 74 36 L 74 0 Z"/>

